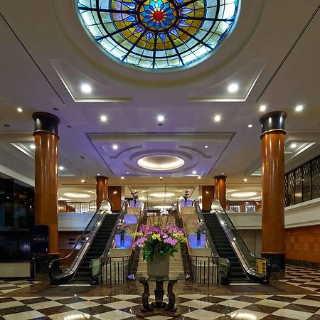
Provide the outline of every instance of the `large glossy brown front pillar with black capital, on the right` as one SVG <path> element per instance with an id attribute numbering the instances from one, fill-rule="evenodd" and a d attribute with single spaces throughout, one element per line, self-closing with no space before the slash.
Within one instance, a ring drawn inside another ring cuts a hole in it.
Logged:
<path id="1" fill-rule="evenodd" d="M 270 259 L 273 277 L 284 279 L 284 119 L 274 111 L 262 124 L 262 257 Z"/>

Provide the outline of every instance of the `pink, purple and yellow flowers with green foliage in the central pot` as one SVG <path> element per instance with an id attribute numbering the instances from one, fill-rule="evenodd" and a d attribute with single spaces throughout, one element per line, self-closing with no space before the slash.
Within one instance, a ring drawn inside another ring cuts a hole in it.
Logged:
<path id="1" fill-rule="evenodd" d="M 134 248 L 142 248 L 142 257 L 145 261 L 153 261 L 154 255 L 171 255 L 177 252 L 179 242 L 186 242 L 184 230 L 176 225 L 168 223 L 164 227 L 152 225 L 147 227 L 142 225 L 138 233 L 134 233 L 137 240 Z"/>

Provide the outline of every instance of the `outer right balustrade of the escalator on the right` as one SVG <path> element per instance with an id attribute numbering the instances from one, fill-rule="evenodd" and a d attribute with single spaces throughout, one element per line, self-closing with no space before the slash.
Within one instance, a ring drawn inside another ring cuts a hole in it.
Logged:
<path id="1" fill-rule="evenodd" d="M 213 208 L 213 210 L 211 210 L 210 213 L 213 213 L 217 216 L 221 228 L 223 228 L 230 245 L 233 247 L 235 254 L 238 256 L 240 264 L 242 265 L 247 277 L 255 281 L 259 280 L 262 283 L 268 283 L 270 277 L 270 263 L 267 261 L 267 259 L 257 258 L 255 255 L 252 255 L 249 248 L 238 233 L 238 230 L 235 228 L 235 225 L 233 224 L 229 215 L 220 206 L 219 201 L 213 201 L 211 208 Z M 266 274 L 260 274 L 260 272 L 258 272 L 257 259 L 265 262 Z"/>

